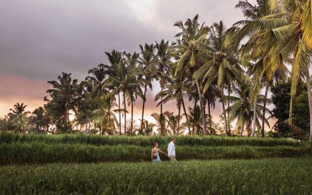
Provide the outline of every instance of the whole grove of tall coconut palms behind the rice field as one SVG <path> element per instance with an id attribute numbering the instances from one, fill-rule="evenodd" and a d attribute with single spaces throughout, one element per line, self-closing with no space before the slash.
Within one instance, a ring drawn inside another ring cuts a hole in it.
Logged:
<path id="1" fill-rule="evenodd" d="M 196 15 L 174 24 L 179 32 L 172 43 L 164 39 L 145 43 L 139 45 L 138 53 L 105 52 L 109 64 L 90 69 L 81 82 L 62 73 L 58 80 L 48 81 L 52 89 L 47 91 L 50 97 L 44 98 L 43 107 L 27 117 L 30 113 L 24 112 L 23 104 L 17 104 L 2 123 L 5 121 L 8 127 L 11 121 L 19 132 L 25 131 L 25 124 L 33 118 L 38 121 L 38 131 L 55 126 L 58 132 L 71 132 L 76 126 L 89 133 L 93 126 L 101 134 L 121 135 L 123 130 L 127 135 L 149 135 L 156 127 L 160 135 L 213 135 L 220 128 L 212 121 L 211 110 L 219 101 L 224 125 L 221 132 L 232 136 L 236 131 L 236 135 L 244 136 L 246 130 L 247 136 L 254 137 L 259 130 L 264 137 L 268 118 L 273 117 L 267 108 L 272 102 L 268 98 L 270 88 L 289 78 L 287 122 L 293 125 L 292 102 L 299 83 L 304 81 L 312 140 L 311 0 L 257 0 L 255 5 L 240 0 L 235 7 L 242 10 L 245 19 L 229 28 L 222 20 L 211 26 L 199 23 Z M 292 69 L 288 70 L 287 65 Z M 160 84 L 155 97 L 160 113 L 152 114 L 156 124 L 144 118 L 147 90 L 152 89 L 153 81 Z M 262 89 L 264 95 L 260 94 Z M 138 127 L 133 118 L 137 98 L 143 100 Z M 177 114 L 163 110 L 170 101 L 176 102 Z M 194 106 L 186 108 L 185 101 Z M 69 120 L 71 113 L 73 121 Z M 183 118 L 185 122 L 181 122 Z"/>

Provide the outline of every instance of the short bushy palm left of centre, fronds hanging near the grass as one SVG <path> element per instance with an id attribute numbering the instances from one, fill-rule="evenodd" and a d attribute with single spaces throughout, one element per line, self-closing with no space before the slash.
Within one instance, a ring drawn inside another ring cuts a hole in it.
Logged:
<path id="1" fill-rule="evenodd" d="M 117 107 L 114 95 L 107 94 L 102 96 L 97 100 L 97 104 L 99 109 L 94 110 L 92 113 L 95 123 L 102 129 L 100 133 L 115 134 L 116 125 L 118 126 L 119 124 L 114 113 L 117 113 L 119 109 L 114 109 Z"/>

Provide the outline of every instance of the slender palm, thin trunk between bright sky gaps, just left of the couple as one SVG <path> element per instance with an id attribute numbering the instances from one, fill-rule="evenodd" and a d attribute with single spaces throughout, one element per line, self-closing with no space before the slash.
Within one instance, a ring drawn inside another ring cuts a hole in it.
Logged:
<path id="1" fill-rule="evenodd" d="M 144 108 L 145 108 L 145 102 L 146 102 L 146 91 L 147 87 L 152 89 L 152 81 L 154 78 L 156 78 L 158 72 L 155 67 L 156 62 L 156 56 L 154 54 L 155 52 L 155 45 L 150 44 L 148 45 L 145 43 L 144 47 L 142 45 L 139 45 L 140 47 L 140 58 L 138 59 L 140 69 L 143 71 L 143 88 L 144 88 L 144 94 L 143 94 L 143 106 L 142 106 L 142 118 L 141 118 L 141 126 L 144 125 Z"/>

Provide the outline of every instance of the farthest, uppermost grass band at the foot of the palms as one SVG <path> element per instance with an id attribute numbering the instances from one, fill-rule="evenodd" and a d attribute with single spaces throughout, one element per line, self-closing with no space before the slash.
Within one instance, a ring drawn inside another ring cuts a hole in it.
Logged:
<path id="1" fill-rule="evenodd" d="M 43 142 L 49 144 L 92 144 L 92 145 L 136 145 L 152 146 L 156 141 L 160 145 L 167 145 L 171 137 L 160 136 L 100 136 L 85 134 L 64 134 L 64 135 L 29 135 L 0 133 L 0 143 L 30 143 Z M 189 146 L 296 146 L 296 140 L 290 138 L 251 138 L 251 137 L 220 137 L 220 136 L 178 136 L 177 144 Z"/>

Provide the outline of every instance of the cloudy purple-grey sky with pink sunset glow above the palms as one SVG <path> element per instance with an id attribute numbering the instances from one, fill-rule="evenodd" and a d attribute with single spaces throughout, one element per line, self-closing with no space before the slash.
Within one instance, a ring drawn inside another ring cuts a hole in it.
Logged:
<path id="1" fill-rule="evenodd" d="M 211 25 L 242 20 L 238 0 L 2 0 L 0 1 L 0 117 L 17 102 L 33 111 L 43 104 L 47 80 L 61 72 L 84 79 L 87 70 L 107 63 L 105 51 L 138 51 L 138 44 L 174 40 L 177 20 L 199 14 Z M 254 3 L 255 0 L 250 0 Z M 148 93 L 146 117 L 159 112 Z M 141 101 L 136 102 L 136 117 Z M 220 108 L 214 111 L 218 121 Z M 175 111 L 175 103 L 165 106 Z M 150 119 L 150 117 L 148 117 Z"/>

